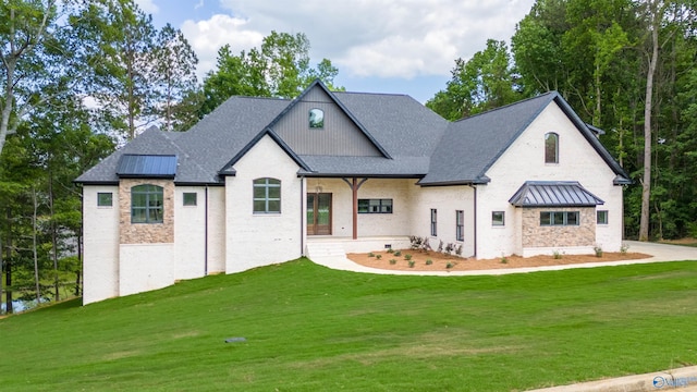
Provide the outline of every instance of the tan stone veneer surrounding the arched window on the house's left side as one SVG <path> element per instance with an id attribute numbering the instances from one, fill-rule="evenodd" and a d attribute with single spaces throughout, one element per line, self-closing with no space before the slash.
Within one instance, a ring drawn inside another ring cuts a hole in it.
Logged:
<path id="1" fill-rule="evenodd" d="M 131 223 L 131 188 L 136 185 L 161 186 L 162 223 Z M 168 244 L 174 242 L 174 182 L 171 180 L 123 179 L 119 182 L 121 244 Z"/>

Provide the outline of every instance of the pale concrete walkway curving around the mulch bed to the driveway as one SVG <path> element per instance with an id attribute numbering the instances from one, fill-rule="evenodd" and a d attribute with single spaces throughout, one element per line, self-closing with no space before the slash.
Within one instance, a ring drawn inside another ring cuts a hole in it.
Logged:
<path id="1" fill-rule="evenodd" d="M 644 243 L 638 241 L 625 241 L 629 246 L 628 252 L 651 255 L 650 258 L 638 260 L 622 260 L 607 262 L 584 262 L 563 266 L 545 266 L 545 267 L 525 267 L 525 268 L 501 268 L 490 270 L 473 270 L 473 271 L 396 271 L 369 268 L 351 261 L 346 257 L 315 257 L 313 261 L 320 266 L 331 269 L 368 272 L 380 274 L 407 274 L 407 275 L 441 275 L 441 277 L 463 277 L 463 275 L 498 275 L 508 273 L 525 273 L 537 271 L 559 271 L 572 268 L 597 268 L 608 266 L 627 266 L 634 264 L 660 262 L 660 261 L 678 261 L 678 260 L 697 260 L 697 247 L 668 245 L 657 243 Z"/>

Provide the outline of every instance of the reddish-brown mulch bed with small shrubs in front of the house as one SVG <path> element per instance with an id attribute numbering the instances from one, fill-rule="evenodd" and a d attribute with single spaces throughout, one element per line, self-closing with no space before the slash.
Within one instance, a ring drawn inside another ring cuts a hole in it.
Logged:
<path id="1" fill-rule="evenodd" d="M 523 268 L 541 266 L 561 266 L 584 262 L 608 262 L 617 260 L 636 260 L 649 258 L 650 255 L 640 253 L 603 253 L 601 257 L 594 255 L 560 255 L 519 257 L 508 256 L 497 259 L 461 258 L 438 252 L 402 249 L 401 254 L 374 252 L 370 254 L 348 254 L 348 259 L 362 266 L 405 271 L 468 271 L 500 268 Z M 408 260 L 411 258 L 411 260 Z M 390 261 L 394 260 L 394 261 Z M 411 262 L 409 262 L 411 261 Z"/>

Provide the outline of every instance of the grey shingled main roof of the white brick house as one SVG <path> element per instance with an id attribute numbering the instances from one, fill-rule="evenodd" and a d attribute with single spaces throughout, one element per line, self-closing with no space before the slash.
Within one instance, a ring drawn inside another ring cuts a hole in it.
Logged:
<path id="1" fill-rule="evenodd" d="M 274 127 L 313 88 L 322 89 L 381 156 L 293 151 Z M 421 185 L 487 183 L 487 170 L 552 101 L 614 170 L 615 184 L 629 183 L 622 168 L 557 93 L 450 123 L 406 95 L 330 91 L 318 81 L 295 100 L 232 97 L 184 133 L 149 128 L 75 181 L 118 184 L 122 156 L 174 156 L 175 183 L 221 185 L 222 176 L 235 175 L 234 163 L 264 136 L 270 136 L 297 163 L 301 175 L 413 177 L 421 179 Z"/>

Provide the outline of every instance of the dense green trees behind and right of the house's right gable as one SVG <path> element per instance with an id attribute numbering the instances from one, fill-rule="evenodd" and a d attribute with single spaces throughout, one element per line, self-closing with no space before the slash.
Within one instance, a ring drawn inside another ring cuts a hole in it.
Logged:
<path id="1" fill-rule="evenodd" d="M 457 59 L 427 106 L 463 117 L 557 90 L 635 185 L 625 236 L 697 236 L 697 2 L 537 0 L 511 47 Z"/>

